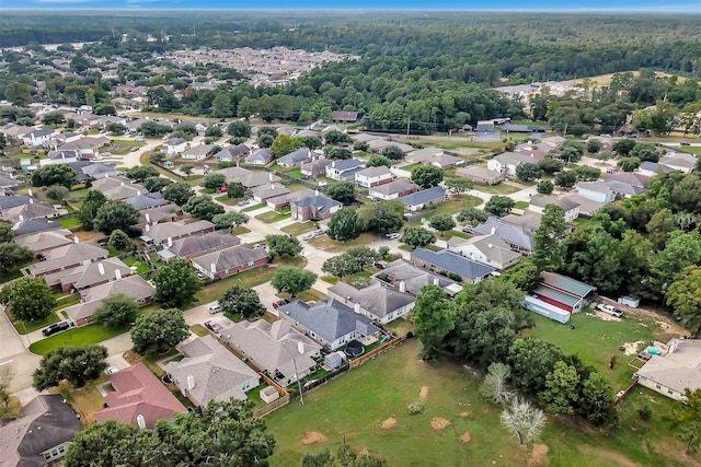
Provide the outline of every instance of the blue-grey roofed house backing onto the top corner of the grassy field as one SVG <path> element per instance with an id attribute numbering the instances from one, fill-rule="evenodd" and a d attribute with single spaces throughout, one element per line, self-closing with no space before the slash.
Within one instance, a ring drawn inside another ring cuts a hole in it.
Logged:
<path id="1" fill-rule="evenodd" d="M 296 301 L 278 308 L 280 318 L 317 339 L 334 351 L 353 339 L 370 343 L 377 340 L 380 329 L 353 308 L 333 299 L 320 300 L 313 305 Z"/>

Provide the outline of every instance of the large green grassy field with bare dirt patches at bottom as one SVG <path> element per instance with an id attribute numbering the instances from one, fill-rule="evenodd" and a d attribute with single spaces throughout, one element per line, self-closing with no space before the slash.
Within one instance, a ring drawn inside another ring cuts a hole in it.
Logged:
<path id="1" fill-rule="evenodd" d="M 432 366 L 417 360 L 420 346 L 412 339 L 308 393 L 303 406 L 292 402 L 267 416 L 277 443 L 271 465 L 298 466 L 303 452 L 336 452 L 344 439 L 346 446 L 380 455 L 391 466 L 682 466 L 701 459 L 683 458 L 683 447 L 671 437 L 664 417 L 670 401 L 635 390 L 623 404 L 619 429 L 595 430 L 550 417 L 539 441 L 547 454 L 529 463 L 532 445 L 520 447 L 507 434 L 498 409 L 480 396 L 480 381 L 460 364 Z M 406 407 L 421 400 L 424 387 L 426 411 L 410 416 Z M 637 418 L 643 404 L 653 406 L 651 422 Z M 433 429 L 434 418 L 450 424 Z M 393 427 L 382 429 L 392 425 L 390 419 Z M 313 433 L 327 440 L 302 444 Z"/>

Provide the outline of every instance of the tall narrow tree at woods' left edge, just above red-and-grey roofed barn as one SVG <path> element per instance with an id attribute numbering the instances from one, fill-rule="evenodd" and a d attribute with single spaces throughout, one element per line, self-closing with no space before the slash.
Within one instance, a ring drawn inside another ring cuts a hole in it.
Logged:
<path id="1" fill-rule="evenodd" d="M 565 211 L 556 205 L 543 209 L 540 226 L 533 234 L 533 264 L 540 270 L 560 270 L 564 266 L 565 245 L 562 241 L 567 233 Z"/>

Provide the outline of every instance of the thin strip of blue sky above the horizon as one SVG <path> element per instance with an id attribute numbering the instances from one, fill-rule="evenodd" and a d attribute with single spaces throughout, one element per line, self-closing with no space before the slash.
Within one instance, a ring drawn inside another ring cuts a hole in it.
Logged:
<path id="1" fill-rule="evenodd" d="M 612 2 L 611 0 L 356 0 L 353 3 L 329 2 L 329 0 L 0 0 L 2 9 L 387 9 L 387 10 L 490 10 L 490 11 L 633 11 L 633 12 L 697 12 L 701 13 L 701 0 L 635 0 Z"/>

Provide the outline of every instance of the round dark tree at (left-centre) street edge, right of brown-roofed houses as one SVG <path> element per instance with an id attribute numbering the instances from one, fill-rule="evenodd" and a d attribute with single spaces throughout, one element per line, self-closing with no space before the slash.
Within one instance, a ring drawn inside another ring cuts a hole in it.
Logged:
<path id="1" fill-rule="evenodd" d="M 188 303 L 202 287 L 195 270 L 180 259 L 161 266 L 153 276 L 153 300 L 161 302 L 163 306 L 181 306 Z"/>

